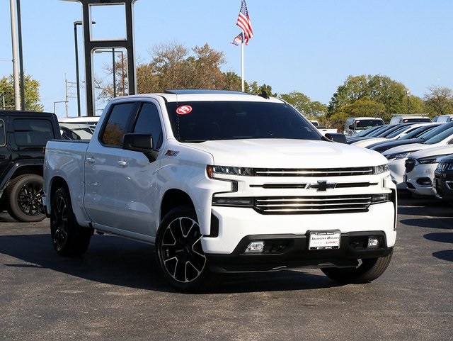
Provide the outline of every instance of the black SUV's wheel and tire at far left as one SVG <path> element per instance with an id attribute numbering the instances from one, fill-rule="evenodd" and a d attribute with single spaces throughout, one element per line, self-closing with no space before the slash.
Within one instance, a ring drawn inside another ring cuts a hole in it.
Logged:
<path id="1" fill-rule="evenodd" d="M 6 188 L 9 215 L 23 223 L 41 221 L 45 218 L 42 206 L 42 177 L 23 174 L 11 181 Z"/>

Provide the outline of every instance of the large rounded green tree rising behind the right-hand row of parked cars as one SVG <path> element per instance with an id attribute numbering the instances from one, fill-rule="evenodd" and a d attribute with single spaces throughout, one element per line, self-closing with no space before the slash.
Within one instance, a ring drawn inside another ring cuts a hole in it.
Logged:
<path id="1" fill-rule="evenodd" d="M 384 118 L 384 121 L 389 121 L 392 113 L 406 113 L 406 91 L 406 86 L 403 84 L 379 74 L 374 76 L 370 74 L 349 76 L 344 84 L 338 86 L 336 93 L 333 94 L 328 105 L 328 117 L 340 112 L 345 113 L 345 110 L 348 111 L 348 108 L 344 108 L 345 106 L 353 104 L 360 99 L 365 99 L 375 104 L 384 105 L 384 111 L 380 115 Z M 417 104 L 418 110 L 420 102 L 415 100 L 415 96 L 411 96 L 411 99 L 413 104 Z M 360 106 L 357 106 L 357 108 Z M 359 114 L 360 116 L 376 116 L 379 113 Z"/>

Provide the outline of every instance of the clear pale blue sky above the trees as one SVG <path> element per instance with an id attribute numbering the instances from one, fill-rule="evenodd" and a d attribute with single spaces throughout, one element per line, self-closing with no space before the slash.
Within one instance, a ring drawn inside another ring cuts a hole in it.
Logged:
<path id="1" fill-rule="evenodd" d="M 16 0 L 14 0 L 16 2 Z M 328 104 L 348 76 L 380 74 L 415 96 L 431 86 L 453 89 L 451 0 L 246 0 L 254 36 L 244 48 L 246 82 L 268 84 L 277 94 L 299 91 Z M 21 0 L 25 74 L 40 82 L 45 111 L 77 116 L 74 21 L 79 2 Z M 137 64 L 151 61 L 156 45 L 206 43 L 222 51 L 224 72 L 241 75 L 241 47 L 231 44 L 241 0 L 137 0 L 134 49 Z M 124 35 L 117 6 L 93 9 L 95 38 Z M 84 57 L 79 27 L 79 60 Z M 10 0 L 0 0 L 0 77 L 13 74 Z M 96 56 L 95 74 L 108 82 L 108 53 Z M 69 86 L 68 112 L 62 101 Z M 71 85 L 72 84 L 72 85 Z M 86 115 L 82 83 L 82 116 Z M 102 104 L 96 106 L 100 114 Z"/>

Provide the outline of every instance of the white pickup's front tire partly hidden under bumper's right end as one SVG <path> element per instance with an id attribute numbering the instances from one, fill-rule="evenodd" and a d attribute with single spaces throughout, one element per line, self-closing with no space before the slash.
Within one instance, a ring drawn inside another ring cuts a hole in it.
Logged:
<path id="1" fill-rule="evenodd" d="M 358 267 L 353 268 L 322 268 L 321 271 L 333 281 L 341 284 L 364 284 L 374 281 L 384 274 L 390 264 L 393 250 L 386 257 L 362 259 Z"/>

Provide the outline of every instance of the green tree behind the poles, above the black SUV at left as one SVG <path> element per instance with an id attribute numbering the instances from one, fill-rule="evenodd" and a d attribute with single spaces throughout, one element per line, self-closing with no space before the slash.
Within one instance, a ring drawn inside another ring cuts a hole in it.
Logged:
<path id="1" fill-rule="evenodd" d="M 25 110 L 42 111 L 44 106 L 40 104 L 40 82 L 32 79 L 30 75 L 25 75 L 24 82 Z M 0 79 L 0 108 L 4 110 L 14 110 L 14 79 L 11 74 L 9 77 Z"/>

